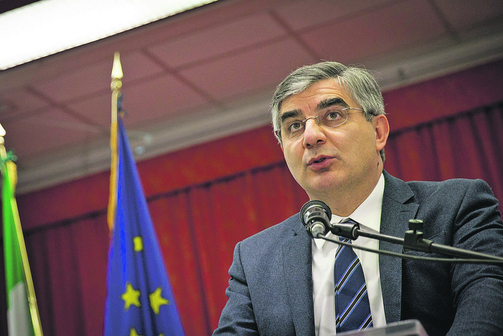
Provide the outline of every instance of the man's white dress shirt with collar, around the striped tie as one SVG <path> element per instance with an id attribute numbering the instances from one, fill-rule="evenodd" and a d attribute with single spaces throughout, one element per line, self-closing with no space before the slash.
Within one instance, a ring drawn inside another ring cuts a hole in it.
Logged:
<path id="1" fill-rule="evenodd" d="M 381 225 L 382 197 L 384 193 L 384 176 L 381 174 L 377 185 L 363 203 L 348 217 L 332 215 L 331 223 L 351 218 L 360 223 L 360 229 L 379 233 Z M 338 239 L 330 232 L 327 237 Z M 377 249 L 376 239 L 358 237 L 352 242 L 357 246 Z M 312 241 L 312 275 L 314 300 L 314 328 L 316 336 L 336 334 L 336 317 L 334 304 L 333 263 L 338 244 L 323 239 Z M 360 259 L 363 275 L 367 283 L 367 293 L 374 327 L 386 325 L 384 303 L 382 301 L 381 278 L 379 275 L 379 254 L 354 249 Z"/>

